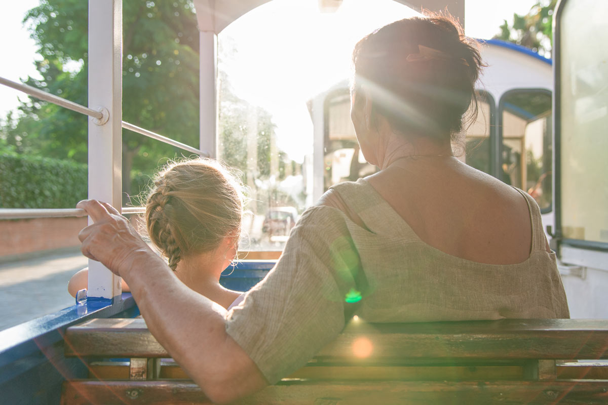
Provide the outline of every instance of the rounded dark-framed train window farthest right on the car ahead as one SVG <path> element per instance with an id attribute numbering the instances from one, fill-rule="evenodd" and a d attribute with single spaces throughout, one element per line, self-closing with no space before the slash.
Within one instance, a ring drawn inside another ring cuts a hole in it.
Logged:
<path id="1" fill-rule="evenodd" d="M 551 210 L 551 92 L 517 89 L 500 100 L 499 178 L 527 191 L 542 212 Z"/>

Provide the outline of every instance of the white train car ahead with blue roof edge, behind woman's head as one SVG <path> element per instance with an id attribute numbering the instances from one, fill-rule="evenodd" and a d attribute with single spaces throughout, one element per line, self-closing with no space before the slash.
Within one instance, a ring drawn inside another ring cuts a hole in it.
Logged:
<path id="1" fill-rule="evenodd" d="M 547 225 L 551 205 L 551 60 L 498 39 L 480 41 L 488 64 L 477 83 L 479 112 L 454 141 L 455 154 L 468 165 L 533 194 Z M 348 81 L 332 86 L 309 104 L 314 123 L 313 200 L 331 185 L 356 180 L 376 168 L 365 163 L 350 120 Z"/>

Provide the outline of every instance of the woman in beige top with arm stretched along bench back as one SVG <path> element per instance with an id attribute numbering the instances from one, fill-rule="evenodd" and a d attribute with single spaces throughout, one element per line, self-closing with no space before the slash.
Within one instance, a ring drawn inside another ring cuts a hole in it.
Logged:
<path id="1" fill-rule="evenodd" d="M 449 18 L 404 19 L 363 38 L 353 64 L 351 118 L 380 171 L 309 208 L 275 268 L 227 313 L 172 281 L 112 208 L 80 203 L 96 222 L 83 253 L 125 277 L 151 332 L 214 401 L 288 375 L 354 312 L 568 317 L 534 200 L 452 154 L 481 65 L 474 43 Z"/>

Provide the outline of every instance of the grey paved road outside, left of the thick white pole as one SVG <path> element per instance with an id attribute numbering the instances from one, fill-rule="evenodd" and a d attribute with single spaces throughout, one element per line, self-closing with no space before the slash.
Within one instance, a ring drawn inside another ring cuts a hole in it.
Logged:
<path id="1" fill-rule="evenodd" d="M 67 282 L 86 265 L 80 251 L 0 264 L 0 330 L 74 305 Z"/>

